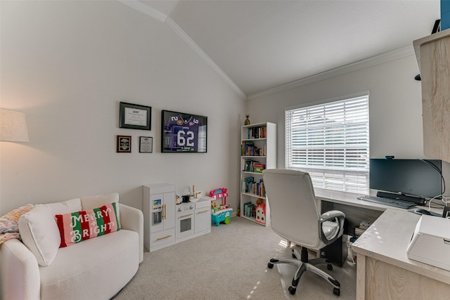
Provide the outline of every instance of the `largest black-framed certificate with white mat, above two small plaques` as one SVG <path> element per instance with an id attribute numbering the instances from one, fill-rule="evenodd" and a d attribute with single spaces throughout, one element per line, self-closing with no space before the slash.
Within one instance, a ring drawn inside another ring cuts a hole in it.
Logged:
<path id="1" fill-rule="evenodd" d="M 119 105 L 119 127 L 150 130 L 152 107 L 121 102 Z"/>

